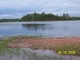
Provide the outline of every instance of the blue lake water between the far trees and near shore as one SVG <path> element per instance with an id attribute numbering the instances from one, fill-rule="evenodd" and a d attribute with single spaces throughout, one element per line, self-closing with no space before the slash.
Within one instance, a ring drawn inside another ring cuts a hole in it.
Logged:
<path id="1" fill-rule="evenodd" d="M 6 22 L 0 23 L 0 36 L 80 36 L 80 21 Z"/>

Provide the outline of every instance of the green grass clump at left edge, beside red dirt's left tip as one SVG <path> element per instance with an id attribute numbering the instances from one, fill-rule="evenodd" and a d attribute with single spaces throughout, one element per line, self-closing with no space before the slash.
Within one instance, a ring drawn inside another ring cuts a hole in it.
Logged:
<path id="1" fill-rule="evenodd" d="M 2 37 L 0 39 L 0 55 L 6 55 L 6 54 L 7 55 L 8 54 L 19 55 L 20 54 L 20 49 L 19 48 L 14 49 L 14 48 L 9 48 L 8 47 L 8 43 L 12 42 L 11 39 L 14 40 L 13 37 Z"/>

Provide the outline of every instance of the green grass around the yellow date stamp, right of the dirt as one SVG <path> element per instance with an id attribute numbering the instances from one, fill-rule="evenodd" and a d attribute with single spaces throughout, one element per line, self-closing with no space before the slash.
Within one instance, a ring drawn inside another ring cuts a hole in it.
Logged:
<path id="1" fill-rule="evenodd" d="M 69 52 L 69 51 L 75 51 L 75 54 L 72 54 L 71 52 L 71 54 L 67 54 L 67 55 L 78 55 L 78 56 L 80 56 L 80 43 L 76 43 L 76 44 L 65 44 L 65 45 L 61 45 L 61 46 L 59 46 L 59 47 L 56 47 L 55 48 L 55 51 L 56 52 L 58 52 L 58 51 L 67 51 L 67 52 Z M 62 54 L 64 54 L 64 53 L 62 53 Z M 64 55 L 66 55 L 66 54 L 64 54 Z"/>

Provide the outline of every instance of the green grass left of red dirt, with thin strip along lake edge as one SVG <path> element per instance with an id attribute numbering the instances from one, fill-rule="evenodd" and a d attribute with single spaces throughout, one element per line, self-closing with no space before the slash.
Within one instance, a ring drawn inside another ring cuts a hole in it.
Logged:
<path id="1" fill-rule="evenodd" d="M 40 38 L 39 36 L 10 36 L 10 37 L 0 37 L 0 55 L 17 53 L 19 54 L 20 48 L 10 48 L 9 43 L 15 40 L 25 39 L 25 38 Z"/>

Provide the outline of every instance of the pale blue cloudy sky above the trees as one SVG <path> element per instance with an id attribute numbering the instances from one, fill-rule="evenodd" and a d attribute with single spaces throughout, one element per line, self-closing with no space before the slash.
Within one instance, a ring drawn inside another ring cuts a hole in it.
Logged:
<path id="1" fill-rule="evenodd" d="M 0 0 L 0 19 L 21 18 L 33 12 L 80 16 L 80 0 Z"/>

